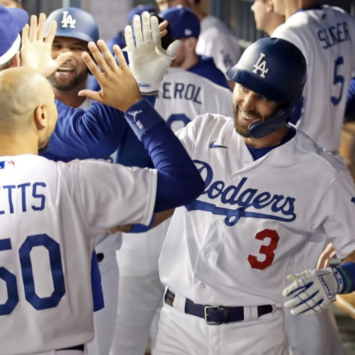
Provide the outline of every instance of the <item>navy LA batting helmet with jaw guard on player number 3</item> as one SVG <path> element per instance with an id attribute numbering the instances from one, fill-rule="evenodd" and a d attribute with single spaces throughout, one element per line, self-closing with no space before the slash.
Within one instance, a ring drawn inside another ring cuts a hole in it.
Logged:
<path id="1" fill-rule="evenodd" d="M 306 59 L 294 44 L 262 38 L 250 45 L 226 75 L 268 100 L 281 104 L 273 118 L 249 125 L 251 137 L 261 138 L 283 127 L 300 101 L 307 77 Z"/>

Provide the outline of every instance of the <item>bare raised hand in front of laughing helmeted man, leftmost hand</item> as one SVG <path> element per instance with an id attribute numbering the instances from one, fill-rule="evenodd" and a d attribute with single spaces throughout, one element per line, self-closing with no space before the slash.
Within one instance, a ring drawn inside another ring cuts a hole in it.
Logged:
<path id="1" fill-rule="evenodd" d="M 46 15 L 40 13 L 32 15 L 30 25 L 22 30 L 21 60 L 23 66 L 31 67 L 45 77 L 52 75 L 71 56 L 71 52 L 60 54 L 56 59 L 52 58 L 52 43 L 57 31 L 57 23 L 50 23 L 47 37 L 44 38 Z"/>

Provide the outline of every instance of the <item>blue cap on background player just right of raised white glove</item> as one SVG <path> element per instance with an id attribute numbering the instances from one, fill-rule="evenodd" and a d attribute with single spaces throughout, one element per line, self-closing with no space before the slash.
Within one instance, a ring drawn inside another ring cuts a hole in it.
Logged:
<path id="1" fill-rule="evenodd" d="M 187 7 L 181 5 L 159 13 L 159 16 L 167 20 L 174 39 L 196 37 L 200 35 L 201 27 L 198 17 Z"/>

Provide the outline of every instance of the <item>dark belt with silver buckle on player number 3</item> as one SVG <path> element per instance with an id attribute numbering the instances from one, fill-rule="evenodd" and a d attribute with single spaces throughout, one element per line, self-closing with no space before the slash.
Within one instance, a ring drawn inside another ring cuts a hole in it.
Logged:
<path id="1" fill-rule="evenodd" d="M 174 298 L 173 292 L 166 291 L 164 300 L 171 307 L 173 307 Z M 258 317 L 272 312 L 271 305 L 257 306 L 257 308 Z M 185 302 L 185 313 L 204 318 L 206 323 L 211 325 L 244 321 L 244 307 L 204 306 L 196 304 L 188 298 Z"/>

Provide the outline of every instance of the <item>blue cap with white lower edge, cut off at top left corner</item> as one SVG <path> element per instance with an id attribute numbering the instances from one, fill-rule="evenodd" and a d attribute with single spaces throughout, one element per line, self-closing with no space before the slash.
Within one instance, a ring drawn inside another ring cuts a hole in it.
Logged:
<path id="1" fill-rule="evenodd" d="M 21 44 L 20 32 L 27 23 L 28 13 L 17 7 L 0 5 L 0 65 L 9 61 Z"/>

